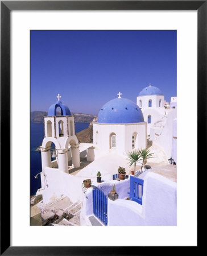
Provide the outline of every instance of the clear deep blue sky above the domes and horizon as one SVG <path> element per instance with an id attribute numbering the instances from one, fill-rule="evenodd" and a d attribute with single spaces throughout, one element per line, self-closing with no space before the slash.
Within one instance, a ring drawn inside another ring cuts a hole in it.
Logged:
<path id="1" fill-rule="evenodd" d="M 156 86 L 177 96 L 176 31 L 31 31 L 31 111 L 48 111 L 60 93 L 71 112 L 98 114 L 107 101 L 136 102 Z"/>

